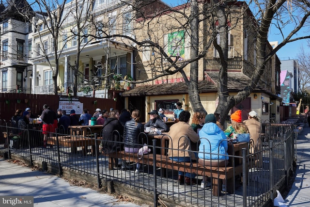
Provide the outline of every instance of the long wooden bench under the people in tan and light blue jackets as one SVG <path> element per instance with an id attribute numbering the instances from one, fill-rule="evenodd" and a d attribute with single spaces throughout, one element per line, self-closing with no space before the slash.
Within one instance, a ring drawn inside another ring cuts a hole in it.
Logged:
<path id="1" fill-rule="evenodd" d="M 233 193 L 233 178 L 235 175 L 242 174 L 243 169 L 242 164 L 238 164 L 234 167 L 210 167 L 202 166 L 196 162 L 192 163 L 192 165 L 190 162 L 175 162 L 169 159 L 166 155 L 156 155 L 154 160 L 153 156 L 154 154 L 147 154 L 143 155 L 142 159 L 139 159 L 138 154 L 136 153 L 126 153 L 124 151 L 110 153 L 109 170 L 113 169 L 113 159 L 123 159 L 129 162 L 139 162 L 152 165 L 154 167 L 204 175 L 212 178 L 212 194 L 214 196 L 218 196 L 222 190 L 222 180 L 226 180 L 227 191 Z"/>

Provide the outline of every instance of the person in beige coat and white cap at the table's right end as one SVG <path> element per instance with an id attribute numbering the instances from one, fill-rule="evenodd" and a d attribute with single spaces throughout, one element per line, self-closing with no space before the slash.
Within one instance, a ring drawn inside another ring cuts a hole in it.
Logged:
<path id="1" fill-rule="evenodd" d="M 257 113 L 255 111 L 250 111 L 248 113 L 248 119 L 243 121 L 245 125 L 248 127 L 248 131 L 250 133 L 250 148 L 249 153 L 254 154 L 253 157 L 255 159 L 255 165 L 258 167 L 262 166 L 263 155 L 259 153 L 262 150 L 262 139 L 261 137 L 261 122 L 257 118 Z"/>

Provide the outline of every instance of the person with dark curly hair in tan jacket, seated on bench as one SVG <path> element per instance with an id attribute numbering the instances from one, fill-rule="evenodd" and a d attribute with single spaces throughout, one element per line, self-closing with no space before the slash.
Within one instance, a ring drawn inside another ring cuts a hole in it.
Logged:
<path id="1" fill-rule="evenodd" d="M 191 159 L 196 159 L 194 153 L 188 152 L 188 150 L 196 150 L 191 147 L 191 142 L 197 143 L 199 136 L 189 125 L 190 113 L 188 111 L 182 111 L 179 115 L 179 122 L 173 124 L 170 127 L 169 136 L 171 141 L 169 142 L 168 157 L 177 162 L 190 162 Z M 185 184 L 196 185 L 196 174 L 186 173 Z M 184 184 L 184 172 L 179 171 L 178 177 L 179 183 Z"/>

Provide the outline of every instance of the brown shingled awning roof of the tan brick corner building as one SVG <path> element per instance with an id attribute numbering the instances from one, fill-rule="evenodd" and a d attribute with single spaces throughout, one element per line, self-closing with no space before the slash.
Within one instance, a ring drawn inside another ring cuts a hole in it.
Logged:
<path id="1" fill-rule="evenodd" d="M 200 93 L 217 92 L 217 72 L 208 72 L 205 80 L 198 81 L 198 91 Z M 228 74 L 228 90 L 230 92 L 238 92 L 247 86 L 250 79 L 242 73 Z M 255 90 L 261 91 L 260 87 Z M 125 91 L 122 96 L 154 96 L 154 95 L 171 95 L 171 94 L 187 94 L 188 88 L 185 82 L 163 83 L 157 85 L 136 86 L 134 89 Z"/>

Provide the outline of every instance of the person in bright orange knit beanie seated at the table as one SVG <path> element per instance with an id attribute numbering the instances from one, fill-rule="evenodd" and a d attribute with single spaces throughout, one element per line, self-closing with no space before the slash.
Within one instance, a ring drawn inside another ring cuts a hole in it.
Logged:
<path id="1" fill-rule="evenodd" d="M 233 137 L 233 134 L 248 133 L 248 127 L 242 122 L 241 110 L 237 110 L 231 114 L 231 122 L 224 131 L 227 137 Z"/>

